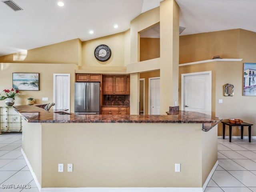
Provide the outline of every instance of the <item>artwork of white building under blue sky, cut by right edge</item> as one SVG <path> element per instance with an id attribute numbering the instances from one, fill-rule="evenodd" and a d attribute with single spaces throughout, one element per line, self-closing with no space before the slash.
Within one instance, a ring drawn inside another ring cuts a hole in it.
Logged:
<path id="1" fill-rule="evenodd" d="M 256 96 L 256 63 L 244 63 L 244 96 Z"/>

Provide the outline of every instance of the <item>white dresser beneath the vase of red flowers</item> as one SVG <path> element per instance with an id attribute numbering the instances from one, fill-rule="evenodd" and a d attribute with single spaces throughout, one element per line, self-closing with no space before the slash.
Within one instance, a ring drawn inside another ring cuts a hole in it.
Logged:
<path id="1" fill-rule="evenodd" d="M 13 107 L 0 107 L 0 134 L 4 131 L 22 131 L 21 116 Z"/>

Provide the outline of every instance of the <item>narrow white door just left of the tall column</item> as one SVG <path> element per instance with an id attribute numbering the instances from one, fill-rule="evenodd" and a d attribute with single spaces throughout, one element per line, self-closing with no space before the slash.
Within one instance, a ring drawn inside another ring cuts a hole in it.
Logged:
<path id="1" fill-rule="evenodd" d="M 148 114 L 160 114 L 160 78 L 148 78 Z"/>

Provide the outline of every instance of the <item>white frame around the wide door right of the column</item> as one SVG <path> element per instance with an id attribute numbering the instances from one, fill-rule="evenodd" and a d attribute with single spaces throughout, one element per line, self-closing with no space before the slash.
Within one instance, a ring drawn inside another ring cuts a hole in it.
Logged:
<path id="1" fill-rule="evenodd" d="M 191 76 L 191 75 L 202 75 L 202 74 L 208 74 L 209 75 L 209 86 L 210 86 L 210 114 L 212 113 L 212 71 L 202 71 L 202 72 L 194 72 L 194 73 L 184 73 L 181 74 L 181 110 L 184 110 L 184 83 L 185 83 L 185 77 Z"/>

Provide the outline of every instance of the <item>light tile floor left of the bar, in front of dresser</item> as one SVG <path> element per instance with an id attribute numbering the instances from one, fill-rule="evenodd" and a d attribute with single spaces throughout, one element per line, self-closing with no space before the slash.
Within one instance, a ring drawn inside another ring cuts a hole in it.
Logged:
<path id="1" fill-rule="evenodd" d="M 22 156 L 21 145 L 22 133 L 0 134 L 0 192 L 39 192 Z"/>

